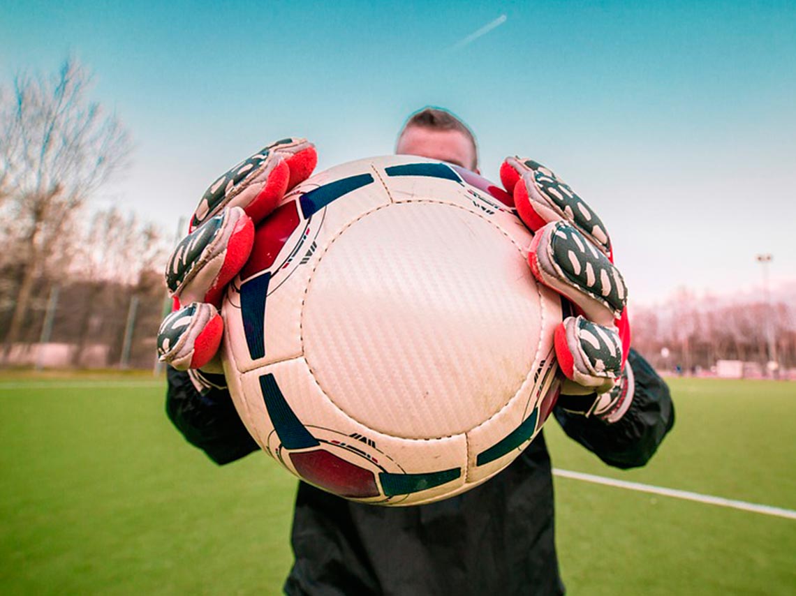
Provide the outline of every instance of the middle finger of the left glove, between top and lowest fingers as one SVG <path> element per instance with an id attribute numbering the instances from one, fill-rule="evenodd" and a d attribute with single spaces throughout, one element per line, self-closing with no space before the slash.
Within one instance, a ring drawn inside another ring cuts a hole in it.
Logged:
<path id="1" fill-rule="evenodd" d="M 254 224 L 240 207 L 224 209 L 185 236 L 166 264 L 166 286 L 182 304 L 220 306 L 224 286 L 252 252 Z"/>

